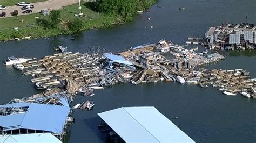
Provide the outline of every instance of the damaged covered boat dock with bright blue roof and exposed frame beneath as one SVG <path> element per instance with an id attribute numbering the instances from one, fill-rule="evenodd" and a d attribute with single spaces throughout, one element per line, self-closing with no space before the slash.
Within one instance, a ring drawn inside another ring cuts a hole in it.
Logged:
<path id="1" fill-rule="evenodd" d="M 0 134 L 50 132 L 59 139 L 64 134 L 70 108 L 61 105 L 12 103 L 0 105 Z"/>

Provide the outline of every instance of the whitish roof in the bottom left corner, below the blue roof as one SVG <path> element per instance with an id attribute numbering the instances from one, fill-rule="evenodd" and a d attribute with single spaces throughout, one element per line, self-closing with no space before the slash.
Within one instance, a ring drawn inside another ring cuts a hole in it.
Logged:
<path id="1" fill-rule="evenodd" d="M 0 137 L 0 142 L 1 143 L 8 143 L 8 142 L 60 143 L 61 141 L 51 133 L 32 133 L 32 134 L 4 135 L 3 137 Z"/>

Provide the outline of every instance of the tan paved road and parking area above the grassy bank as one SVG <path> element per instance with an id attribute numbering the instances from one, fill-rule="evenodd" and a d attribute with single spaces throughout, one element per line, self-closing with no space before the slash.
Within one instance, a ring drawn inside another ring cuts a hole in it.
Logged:
<path id="1" fill-rule="evenodd" d="M 38 2 L 38 3 L 32 3 L 32 5 L 35 5 L 35 8 L 32 9 L 32 13 L 36 13 L 39 12 L 41 10 L 47 10 L 47 9 L 61 9 L 62 6 L 66 6 L 66 5 L 72 5 L 72 4 L 76 4 L 78 3 L 79 0 L 49 0 L 49 1 L 45 1 L 45 2 Z M 22 6 L 8 6 L 4 12 L 6 12 L 6 17 L 11 17 L 11 12 L 14 12 L 14 10 L 18 10 L 19 14 L 18 15 L 24 15 L 22 14 L 21 10 Z M 1 12 L 2 13 L 2 12 Z M 27 13 L 26 15 L 29 15 L 29 13 Z"/>

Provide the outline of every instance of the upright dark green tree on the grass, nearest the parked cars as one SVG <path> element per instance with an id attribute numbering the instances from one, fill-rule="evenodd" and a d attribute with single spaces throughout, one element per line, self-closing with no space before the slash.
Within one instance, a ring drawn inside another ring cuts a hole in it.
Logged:
<path id="1" fill-rule="evenodd" d="M 52 10 L 48 16 L 48 24 L 51 28 L 58 28 L 60 23 L 60 11 Z"/>

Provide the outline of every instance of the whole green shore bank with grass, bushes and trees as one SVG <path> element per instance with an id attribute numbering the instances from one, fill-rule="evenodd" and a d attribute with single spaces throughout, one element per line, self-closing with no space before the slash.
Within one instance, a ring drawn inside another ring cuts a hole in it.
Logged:
<path id="1" fill-rule="evenodd" d="M 116 5 L 114 6 L 114 3 Z M 24 37 L 50 37 L 71 34 L 82 30 L 99 29 L 122 24 L 132 20 L 137 11 L 144 11 L 157 0 L 104 0 L 84 3 L 82 13 L 86 17 L 75 17 L 78 4 L 51 11 L 49 16 L 39 13 L 0 20 L 0 40 L 6 41 Z M 21 27 L 16 28 L 14 27 Z"/>

